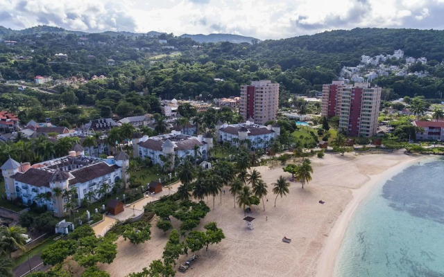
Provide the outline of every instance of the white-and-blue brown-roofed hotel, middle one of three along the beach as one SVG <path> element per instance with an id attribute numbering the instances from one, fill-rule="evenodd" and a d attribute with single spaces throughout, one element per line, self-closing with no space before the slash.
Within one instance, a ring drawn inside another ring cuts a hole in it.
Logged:
<path id="1" fill-rule="evenodd" d="M 164 166 L 169 162 L 171 167 L 175 166 L 181 158 L 187 156 L 194 159 L 207 159 L 208 151 L 213 144 L 213 138 L 199 136 L 188 136 L 172 131 L 171 134 L 159 136 L 143 136 L 138 139 L 137 153 L 142 159 L 148 157 L 155 164 Z M 134 143 L 133 143 L 134 145 Z"/>

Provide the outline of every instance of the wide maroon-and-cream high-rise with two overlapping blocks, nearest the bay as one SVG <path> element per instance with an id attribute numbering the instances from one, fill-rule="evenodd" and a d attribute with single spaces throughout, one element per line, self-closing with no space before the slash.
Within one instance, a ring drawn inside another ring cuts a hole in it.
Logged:
<path id="1" fill-rule="evenodd" d="M 381 91 L 381 87 L 370 87 L 368 82 L 324 84 L 321 115 L 327 118 L 339 116 L 339 129 L 350 136 L 374 136 Z"/>

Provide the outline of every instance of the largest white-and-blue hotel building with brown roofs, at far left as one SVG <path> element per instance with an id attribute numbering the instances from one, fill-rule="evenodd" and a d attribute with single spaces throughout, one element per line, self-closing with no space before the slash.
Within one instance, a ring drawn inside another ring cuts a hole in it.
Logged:
<path id="1" fill-rule="evenodd" d="M 42 163 L 18 163 L 8 159 L 1 172 L 5 179 L 6 197 L 9 200 L 21 199 L 26 205 L 36 203 L 37 206 L 46 206 L 54 215 L 63 217 L 67 212 L 67 197 L 63 192 L 76 190 L 73 202 L 80 206 L 80 202 L 89 192 L 93 193 L 92 202 L 101 196 L 101 185 L 107 183 L 109 190 L 114 184 L 129 178 L 129 157 L 118 154 L 119 159 L 108 157 L 98 159 L 85 157 L 83 150 L 70 151 L 68 156 Z M 127 158 L 127 159 L 125 159 Z M 46 197 L 42 197 L 46 195 Z"/>

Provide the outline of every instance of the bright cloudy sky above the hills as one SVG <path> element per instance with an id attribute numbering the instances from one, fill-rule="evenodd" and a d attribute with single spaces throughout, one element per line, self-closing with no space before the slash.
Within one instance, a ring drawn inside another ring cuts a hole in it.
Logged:
<path id="1" fill-rule="evenodd" d="M 258 39 L 357 27 L 442 30 L 444 0 L 1 0 L 0 25 Z"/>

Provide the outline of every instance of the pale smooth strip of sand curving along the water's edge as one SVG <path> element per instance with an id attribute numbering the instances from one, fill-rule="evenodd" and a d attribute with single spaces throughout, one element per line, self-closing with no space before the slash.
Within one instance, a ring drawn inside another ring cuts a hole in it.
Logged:
<path id="1" fill-rule="evenodd" d="M 361 187 L 350 188 L 350 190 L 352 190 L 352 199 L 345 206 L 345 209 L 341 215 L 339 215 L 333 228 L 330 230 L 327 241 L 321 251 L 321 256 L 318 259 L 316 277 L 332 277 L 336 265 L 337 254 L 341 247 L 345 231 L 348 229 L 348 224 L 359 207 L 359 204 L 361 204 L 361 201 L 368 196 L 370 191 L 373 190 L 377 184 L 387 181 L 391 177 L 398 175 L 402 170 L 413 166 L 414 163 L 424 161 L 427 158 L 430 159 L 430 157 L 427 156 L 406 159 L 380 174 L 368 175 L 370 179 Z"/>

